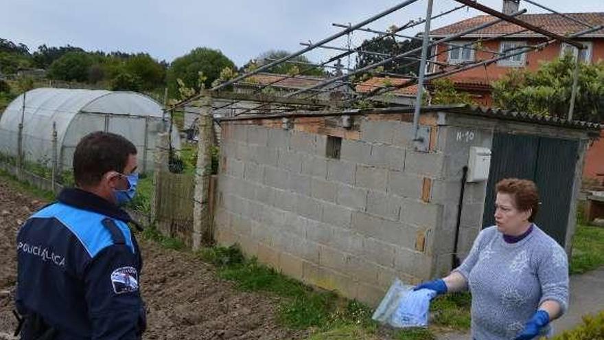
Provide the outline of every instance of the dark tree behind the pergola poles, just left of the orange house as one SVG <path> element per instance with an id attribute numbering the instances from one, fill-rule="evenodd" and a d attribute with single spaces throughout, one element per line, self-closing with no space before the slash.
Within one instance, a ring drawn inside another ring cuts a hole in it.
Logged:
<path id="1" fill-rule="evenodd" d="M 421 47 L 421 41 L 413 39 L 406 41 L 395 41 L 392 36 L 386 36 L 384 38 L 375 37 L 369 40 L 365 40 L 361 43 L 360 49 L 367 52 L 377 52 L 380 54 L 387 54 L 387 56 L 379 56 L 375 54 L 359 53 L 356 59 L 356 68 L 362 69 L 368 65 L 379 63 L 382 60 L 386 60 L 391 56 L 402 54 L 412 49 Z M 421 52 L 410 55 L 413 58 L 419 58 Z M 419 60 L 414 63 L 415 60 L 410 59 L 399 59 L 384 64 L 384 71 L 391 73 L 407 74 L 407 73 L 419 73 Z"/>

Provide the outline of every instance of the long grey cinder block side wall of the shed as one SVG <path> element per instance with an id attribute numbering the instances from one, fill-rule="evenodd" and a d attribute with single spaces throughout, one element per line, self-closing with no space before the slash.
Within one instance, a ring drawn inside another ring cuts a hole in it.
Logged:
<path id="1" fill-rule="evenodd" d="M 216 239 L 369 304 L 395 277 L 430 278 L 449 203 L 435 195 L 452 194 L 442 189 L 436 119 L 423 122 L 432 125 L 430 152 L 413 150 L 408 122 L 358 117 L 358 133 L 342 133 L 340 159 L 326 157 L 327 135 L 297 130 L 304 124 L 224 122 Z"/>

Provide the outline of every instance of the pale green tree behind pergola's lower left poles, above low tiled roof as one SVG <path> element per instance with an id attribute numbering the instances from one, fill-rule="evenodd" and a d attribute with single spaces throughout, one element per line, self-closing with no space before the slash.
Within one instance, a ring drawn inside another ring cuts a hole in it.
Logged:
<path id="1" fill-rule="evenodd" d="M 255 60 L 250 60 L 246 65 L 244 65 L 244 69 L 250 67 L 262 67 L 264 65 L 270 64 L 275 60 L 279 60 L 286 56 L 289 56 L 290 52 L 284 51 L 283 49 L 270 49 L 259 56 Z M 312 67 L 310 60 L 306 58 L 306 56 L 296 56 L 289 60 L 289 62 L 281 63 L 280 65 L 270 67 L 266 70 L 268 73 L 277 73 L 277 74 L 289 74 L 289 75 L 297 75 L 301 74 L 303 76 L 325 76 L 325 70 L 321 67 Z"/>

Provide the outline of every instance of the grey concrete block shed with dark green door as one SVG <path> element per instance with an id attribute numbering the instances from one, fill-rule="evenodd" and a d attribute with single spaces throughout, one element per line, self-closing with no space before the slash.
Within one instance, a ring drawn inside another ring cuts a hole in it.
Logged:
<path id="1" fill-rule="evenodd" d="M 214 233 L 303 282 L 376 304 L 463 260 L 493 223 L 493 188 L 533 179 L 537 224 L 570 251 L 583 155 L 600 126 L 472 106 L 300 113 L 222 120 Z M 489 179 L 464 183 L 472 147 Z M 459 203 L 463 201 L 461 215 Z M 459 218 L 458 218 L 459 217 Z M 455 242 L 457 240 L 457 242 Z"/>

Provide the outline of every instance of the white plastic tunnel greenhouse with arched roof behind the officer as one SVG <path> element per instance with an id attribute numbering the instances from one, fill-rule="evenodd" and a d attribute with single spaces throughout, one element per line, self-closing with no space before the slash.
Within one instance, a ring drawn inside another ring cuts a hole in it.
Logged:
<path id="1" fill-rule="evenodd" d="M 130 139 L 138 150 L 139 168 L 152 169 L 156 137 L 167 130 L 162 106 L 146 95 L 84 89 L 34 89 L 13 100 L 0 117 L 0 153 L 16 156 L 19 124 L 23 123 L 25 161 L 69 170 L 78 141 L 93 131 L 108 131 Z M 55 133 L 56 131 L 56 133 Z M 178 131 L 171 133 L 179 148 Z"/>

